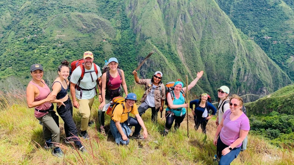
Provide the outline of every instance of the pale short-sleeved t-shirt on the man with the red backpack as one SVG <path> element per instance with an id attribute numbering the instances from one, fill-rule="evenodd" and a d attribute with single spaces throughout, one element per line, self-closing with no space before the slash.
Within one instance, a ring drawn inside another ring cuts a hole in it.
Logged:
<path id="1" fill-rule="evenodd" d="M 96 65 L 96 64 L 95 64 Z M 96 86 L 96 80 L 98 77 L 101 77 L 102 73 L 100 70 L 100 67 L 98 65 L 97 66 L 97 70 L 98 70 L 98 74 L 96 75 L 95 69 L 94 69 L 94 65 L 92 65 L 91 70 L 94 70 L 94 72 L 92 72 L 92 77 L 93 77 L 93 82 L 92 82 L 92 78 L 90 73 L 85 73 L 83 79 L 81 80 L 80 83 L 80 87 L 83 89 L 92 89 L 93 87 Z M 85 68 L 85 72 L 91 71 L 91 70 L 87 70 Z M 71 82 L 74 84 L 78 83 L 78 79 L 81 77 L 82 74 L 82 70 L 80 67 L 77 67 L 73 73 L 71 74 Z M 98 89 L 97 89 L 98 90 Z M 98 92 L 98 91 L 97 91 Z M 91 99 L 95 96 L 95 88 L 93 90 L 87 91 L 87 90 L 83 90 L 82 93 L 82 98 L 81 99 Z M 80 98 L 80 91 L 76 90 L 76 98 L 79 99 Z"/>

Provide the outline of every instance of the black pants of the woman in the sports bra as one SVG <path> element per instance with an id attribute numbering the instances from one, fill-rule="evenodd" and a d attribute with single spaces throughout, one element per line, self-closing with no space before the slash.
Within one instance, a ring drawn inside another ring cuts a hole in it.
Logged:
<path id="1" fill-rule="evenodd" d="M 61 119 L 64 121 L 64 132 L 66 137 L 71 137 L 74 140 L 75 144 L 81 148 L 83 145 L 78 139 L 78 130 L 76 129 L 76 124 L 73 119 L 73 105 L 71 104 L 71 100 L 68 98 L 65 102 L 63 102 L 66 106 L 61 105 L 60 107 L 56 107 L 56 111 Z M 69 140 L 69 139 L 68 139 Z"/>

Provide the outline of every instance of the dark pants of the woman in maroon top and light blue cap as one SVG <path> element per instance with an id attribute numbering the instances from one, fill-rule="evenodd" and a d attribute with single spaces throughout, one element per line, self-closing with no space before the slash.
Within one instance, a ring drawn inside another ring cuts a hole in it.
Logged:
<path id="1" fill-rule="evenodd" d="M 120 89 L 120 88 L 118 88 L 118 89 Z M 111 95 L 112 95 L 112 97 L 111 97 Z M 107 89 L 106 93 L 105 93 L 105 104 L 108 104 L 109 102 L 112 101 L 112 99 L 114 97 L 118 97 L 118 96 L 123 97 L 123 90 L 122 89 L 118 90 L 117 92 L 113 92 L 110 89 Z M 105 109 L 105 105 L 104 105 L 103 109 Z M 105 115 L 104 115 L 105 111 L 106 110 L 98 110 L 98 118 L 99 118 L 100 127 L 104 126 L 104 123 L 105 123 Z"/>

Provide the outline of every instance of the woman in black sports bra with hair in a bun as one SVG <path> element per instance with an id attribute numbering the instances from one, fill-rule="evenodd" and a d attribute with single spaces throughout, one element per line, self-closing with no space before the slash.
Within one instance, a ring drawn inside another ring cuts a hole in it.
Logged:
<path id="1" fill-rule="evenodd" d="M 61 62 L 61 65 L 58 67 L 58 75 L 59 77 L 52 84 L 52 94 L 56 95 L 56 99 L 61 100 L 65 105 L 57 103 L 56 107 L 58 115 L 64 121 L 65 142 L 68 144 L 74 142 L 82 152 L 86 151 L 78 138 L 78 130 L 72 117 L 73 106 L 67 94 L 67 90 L 69 89 L 69 80 L 67 79 L 69 77 L 69 62 L 66 60 Z"/>

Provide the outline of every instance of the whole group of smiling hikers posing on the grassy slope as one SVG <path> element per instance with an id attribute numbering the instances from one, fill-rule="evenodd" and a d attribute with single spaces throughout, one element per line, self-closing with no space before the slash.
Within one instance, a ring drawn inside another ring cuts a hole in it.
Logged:
<path id="1" fill-rule="evenodd" d="M 206 134 L 208 120 L 216 115 L 218 126 L 213 144 L 217 146 L 219 164 L 230 164 L 241 150 L 241 144 L 250 129 L 249 119 L 243 113 L 243 100 L 237 95 L 228 97 L 229 88 L 222 86 L 218 88 L 218 108 L 210 102 L 210 96 L 203 93 L 200 99 L 190 103 L 185 101 L 185 92 L 194 87 L 202 77 L 203 71 L 197 73 L 197 77 L 187 86 L 181 81 L 172 82 L 168 88 L 163 84 L 163 73 L 157 71 L 151 79 L 140 79 L 137 71 L 133 71 L 136 83 L 144 85 L 145 92 L 141 99 L 141 105 L 137 107 L 137 95 L 128 93 L 123 70 L 118 66 L 116 58 L 110 58 L 107 66 L 103 67 L 103 74 L 98 65 L 93 63 L 94 55 L 90 51 L 83 53 L 83 59 L 71 63 L 71 77 L 69 62 L 61 62 L 58 67 L 58 77 L 52 84 L 52 92 L 42 79 L 44 70 L 41 64 L 31 65 L 32 80 L 26 89 L 27 104 L 29 108 L 34 107 L 34 115 L 43 125 L 45 138 L 45 149 L 53 148 L 54 156 L 63 157 L 64 153 L 59 147 L 60 129 L 56 111 L 64 121 L 66 143 L 74 143 L 82 152 L 86 148 L 81 144 L 78 137 L 78 130 L 73 120 L 73 106 L 79 110 L 81 115 L 80 136 L 89 139 L 87 133 L 88 125 L 92 124 L 90 119 L 91 109 L 95 95 L 98 95 L 98 120 L 101 134 L 105 134 L 105 112 L 109 115 L 111 110 L 110 131 L 117 144 L 129 143 L 129 138 L 145 140 L 148 136 L 147 129 L 141 116 L 148 108 L 151 108 L 151 120 L 157 121 L 158 112 L 163 111 L 164 102 L 167 108 L 165 113 L 166 123 L 162 131 L 166 136 L 173 123 L 174 129 L 179 129 L 181 122 L 186 116 L 188 107 L 191 108 L 194 116 L 195 129 L 201 126 L 202 132 Z M 71 97 L 67 94 L 70 88 Z M 97 92 L 98 89 L 98 92 Z M 167 90 L 166 90 L 167 89 Z M 123 92 L 126 97 L 123 98 Z M 113 100 L 120 99 L 121 102 L 112 107 Z M 195 105 L 193 107 L 193 105 Z M 129 114 L 135 115 L 131 117 Z M 57 119 L 56 119 L 57 118 Z M 131 135 L 131 127 L 134 132 Z M 143 128 L 143 134 L 140 134 Z"/>

